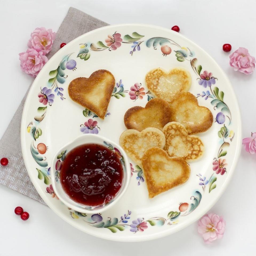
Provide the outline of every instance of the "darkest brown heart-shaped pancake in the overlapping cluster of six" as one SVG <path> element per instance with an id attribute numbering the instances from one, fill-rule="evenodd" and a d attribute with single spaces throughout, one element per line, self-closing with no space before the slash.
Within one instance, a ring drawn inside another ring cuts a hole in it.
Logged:
<path id="1" fill-rule="evenodd" d="M 135 106 L 128 109 L 124 115 L 127 129 L 142 131 L 147 127 L 163 129 L 170 121 L 171 108 L 163 99 L 151 99 L 144 107 Z"/>

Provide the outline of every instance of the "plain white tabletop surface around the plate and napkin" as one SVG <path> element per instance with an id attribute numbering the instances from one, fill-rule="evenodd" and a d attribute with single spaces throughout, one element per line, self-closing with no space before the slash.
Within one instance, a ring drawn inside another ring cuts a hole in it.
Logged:
<path id="1" fill-rule="evenodd" d="M 0 6 L 0 137 L 31 82 L 20 70 L 18 53 L 26 51 L 36 27 L 57 31 L 70 6 L 110 24 L 178 25 L 180 33 L 206 50 L 229 76 L 241 108 L 243 137 L 256 131 L 256 71 L 234 72 L 229 53 L 222 51 L 223 43 L 230 43 L 232 50 L 246 47 L 256 57 L 254 0 L 0 0 Z M 255 165 L 256 156 L 242 149 L 229 186 L 210 210 L 226 220 L 224 238 L 212 245 L 203 243 L 196 223 L 149 242 L 102 240 L 76 230 L 47 206 L 0 185 L 0 255 L 255 255 Z M 14 214 L 18 205 L 30 213 L 28 221 Z"/>

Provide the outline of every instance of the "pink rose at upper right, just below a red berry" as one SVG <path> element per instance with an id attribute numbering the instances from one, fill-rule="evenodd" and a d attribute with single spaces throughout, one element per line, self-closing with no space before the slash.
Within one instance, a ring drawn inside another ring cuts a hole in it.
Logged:
<path id="1" fill-rule="evenodd" d="M 230 56 L 229 64 L 234 67 L 235 71 L 240 71 L 245 74 L 253 73 L 255 68 L 255 58 L 252 57 L 246 48 L 239 47 L 238 50 L 234 51 Z"/>

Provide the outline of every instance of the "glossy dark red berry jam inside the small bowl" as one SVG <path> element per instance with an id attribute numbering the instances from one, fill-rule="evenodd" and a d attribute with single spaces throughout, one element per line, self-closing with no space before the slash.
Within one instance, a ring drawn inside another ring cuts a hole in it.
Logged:
<path id="1" fill-rule="evenodd" d="M 118 155 L 99 144 L 84 144 L 72 149 L 63 161 L 60 181 L 75 202 L 103 205 L 118 193 L 123 168 Z"/>

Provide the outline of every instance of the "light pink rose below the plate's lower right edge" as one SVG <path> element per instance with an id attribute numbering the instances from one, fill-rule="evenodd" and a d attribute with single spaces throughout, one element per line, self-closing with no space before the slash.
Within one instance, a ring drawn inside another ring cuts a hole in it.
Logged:
<path id="1" fill-rule="evenodd" d="M 205 214 L 199 221 L 197 231 L 202 235 L 205 243 L 211 243 L 223 237 L 226 222 L 217 214 Z"/>

